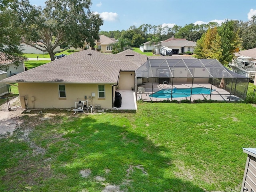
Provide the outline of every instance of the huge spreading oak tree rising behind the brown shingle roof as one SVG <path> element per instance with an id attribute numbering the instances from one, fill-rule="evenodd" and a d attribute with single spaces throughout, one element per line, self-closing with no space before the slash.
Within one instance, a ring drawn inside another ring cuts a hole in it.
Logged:
<path id="1" fill-rule="evenodd" d="M 94 46 L 95 39 L 99 39 L 98 32 L 103 21 L 98 14 L 90 11 L 90 0 L 47 0 L 44 8 L 31 6 L 28 0 L 19 0 L 19 4 L 17 14 L 24 29 L 23 42 L 48 52 L 51 60 L 54 60 L 56 53 L 70 46 L 83 47 L 85 42 Z M 24 17 L 24 10 L 29 10 L 25 16 L 33 20 Z M 68 47 L 54 51 L 63 44 L 68 44 Z"/>

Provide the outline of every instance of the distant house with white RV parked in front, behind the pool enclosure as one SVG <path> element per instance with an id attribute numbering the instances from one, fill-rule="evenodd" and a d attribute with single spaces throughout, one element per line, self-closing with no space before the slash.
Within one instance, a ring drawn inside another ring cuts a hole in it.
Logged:
<path id="1" fill-rule="evenodd" d="M 186 39 L 176 39 L 174 36 L 167 40 L 161 41 L 156 46 L 156 54 L 160 54 L 161 47 L 168 47 L 172 49 L 172 54 L 180 54 L 186 52 L 194 52 L 194 47 L 196 46 L 196 42 L 188 41 Z"/>

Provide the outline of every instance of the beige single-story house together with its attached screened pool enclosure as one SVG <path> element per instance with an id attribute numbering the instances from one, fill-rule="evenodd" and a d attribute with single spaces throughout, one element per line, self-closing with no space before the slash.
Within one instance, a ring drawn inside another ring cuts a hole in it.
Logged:
<path id="1" fill-rule="evenodd" d="M 210 99 L 230 100 L 246 97 L 248 81 L 249 78 L 227 70 L 216 59 L 199 60 L 181 55 L 151 58 L 132 50 L 103 54 L 88 49 L 0 82 L 18 83 L 20 98 L 24 97 L 20 99 L 22 108 L 72 108 L 75 102 L 88 100 L 95 108 L 110 109 L 118 107 L 114 101 L 119 88 L 121 100 L 125 99 L 122 104 L 135 106 L 124 108 L 122 105 L 121 109 L 136 109 L 142 88 L 146 100 L 152 93 L 164 89 L 164 84 L 170 88 L 210 88 Z M 208 91 L 199 94 L 204 98 L 209 95 Z M 174 94 L 164 95 L 163 99 L 169 96 Z"/>

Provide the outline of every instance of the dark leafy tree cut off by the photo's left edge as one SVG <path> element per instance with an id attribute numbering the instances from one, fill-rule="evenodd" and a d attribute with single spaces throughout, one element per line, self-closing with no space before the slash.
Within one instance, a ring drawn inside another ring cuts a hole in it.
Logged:
<path id="1" fill-rule="evenodd" d="M 5 62 L 12 61 L 18 66 L 26 60 L 20 47 L 21 29 L 12 9 L 15 3 L 14 0 L 5 0 L 0 4 L 0 69 Z"/>

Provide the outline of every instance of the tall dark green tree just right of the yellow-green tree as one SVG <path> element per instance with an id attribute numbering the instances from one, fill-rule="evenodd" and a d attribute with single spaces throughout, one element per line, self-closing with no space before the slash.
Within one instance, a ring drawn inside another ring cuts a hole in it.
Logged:
<path id="1" fill-rule="evenodd" d="M 241 46 L 240 38 L 238 37 L 239 30 L 235 30 L 233 20 L 226 20 L 218 28 L 218 34 L 221 36 L 222 58 L 220 62 L 223 65 L 228 65 L 232 61 L 236 48 Z"/>

